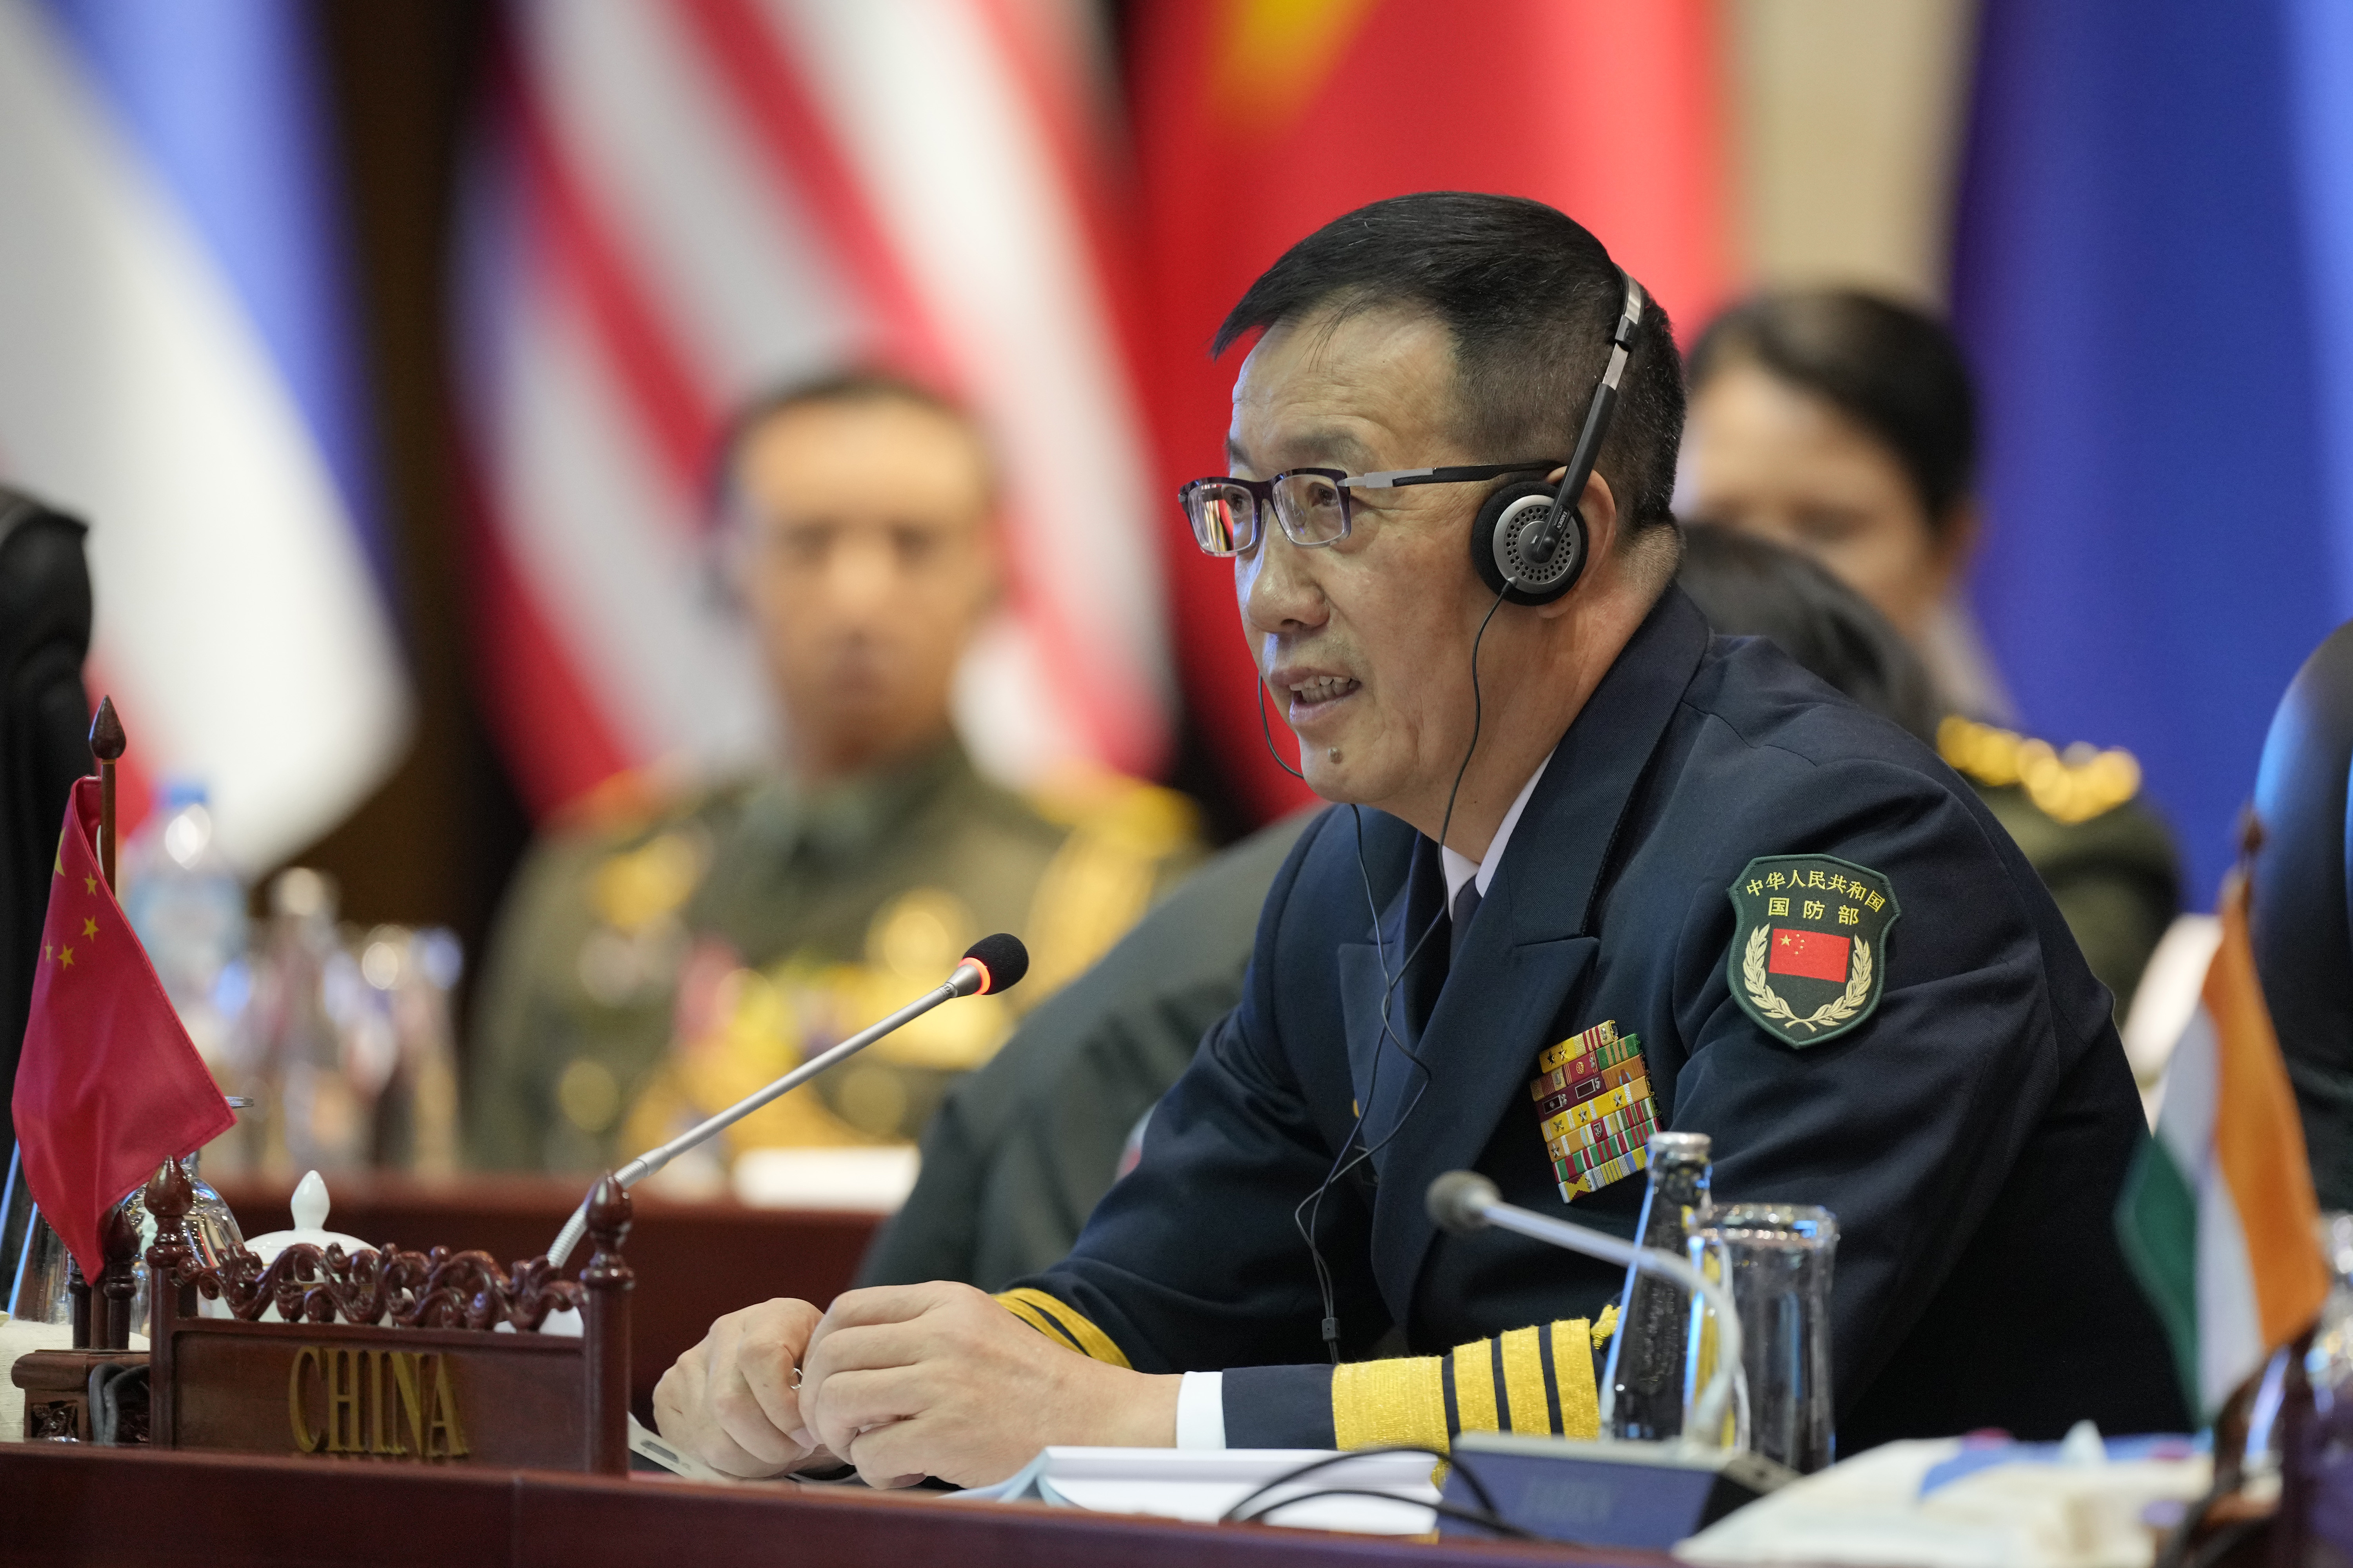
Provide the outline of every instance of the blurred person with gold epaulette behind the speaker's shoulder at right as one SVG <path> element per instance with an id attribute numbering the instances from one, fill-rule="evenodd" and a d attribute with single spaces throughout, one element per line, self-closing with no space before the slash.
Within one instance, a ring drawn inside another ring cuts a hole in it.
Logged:
<path id="1" fill-rule="evenodd" d="M 1871 294 L 1767 294 L 1699 334 L 1689 383 L 1678 512 L 1812 555 L 1920 651 L 1955 715 L 1937 750 L 2026 851 L 2122 1018 L 2181 870 L 2129 752 L 1981 722 L 2000 698 L 1953 609 L 1977 548 L 1977 407 L 1953 336 Z"/>

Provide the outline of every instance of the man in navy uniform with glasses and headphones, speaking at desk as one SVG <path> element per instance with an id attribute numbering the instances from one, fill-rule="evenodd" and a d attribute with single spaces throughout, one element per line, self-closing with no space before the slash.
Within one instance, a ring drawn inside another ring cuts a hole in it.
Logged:
<path id="1" fill-rule="evenodd" d="M 1424 1192 L 1471 1166 L 1624 1237 L 1649 1128 L 1713 1138 L 1718 1201 L 1838 1215 L 1845 1450 L 2184 1425 L 2111 1229 L 2141 1110 L 2106 994 L 1960 778 L 1671 585 L 1664 313 L 1562 214 L 1435 193 L 1301 240 L 1219 348 L 1252 331 L 1231 477 L 1188 512 L 1308 783 L 1358 811 L 1292 851 L 1240 1006 L 1071 1258 L 729 1314 L 661 1429 L 875 1483 L 1045 1443 L 1591 1434 L 1621 1272 L 1435 1234 Z M 1551 517 L 1617 371 L 1560 550 L 1489 527 Z M 1572 550 L 1567 592 L 1525 592 Z"/>

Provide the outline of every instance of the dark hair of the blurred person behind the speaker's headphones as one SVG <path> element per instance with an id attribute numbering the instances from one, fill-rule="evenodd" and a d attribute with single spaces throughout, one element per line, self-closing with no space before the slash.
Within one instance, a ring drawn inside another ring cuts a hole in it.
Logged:
<path id="1" fill-rule="evenodd" d="M 1927 527 L 1951 527 L 1974 482 L 1977 395 L 1960 343 L 1934 315 L 1861 289 L 1760 294 L 1699 334 L 1692 386 L 1734 364 L 1852 418 L 1904 465 Z"/>

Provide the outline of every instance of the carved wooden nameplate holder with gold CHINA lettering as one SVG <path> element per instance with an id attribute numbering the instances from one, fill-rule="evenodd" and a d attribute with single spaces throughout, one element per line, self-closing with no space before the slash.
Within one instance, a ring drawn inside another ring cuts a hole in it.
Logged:
<path id="1" fill-rule="evenodd" d="M 445 1246 L 346 1258 L 339 1246 L 294 1244 L 268 1267 L 235 1253 L 205 1269 L 186 1232 L 193 1201 L 179 1161 L 165 1161 L 146 1190 L 155 1448 L 628 1469 L 631 1204 L 609 1175 L 588 1204 L 595 1253 L 579 1284 L 546 1258 L 506 1272 L 489 1253 Z M 226 1302 L 231 1316 L 195 1316 L 198 1295 Z M 271 1307 L 285 1321 L 259 1321 Z M 581 1314 L 581 1335 L 534 1333 L 558 1307 Z M 19 1361 L 19 1382 L 31 1361 Z"/>

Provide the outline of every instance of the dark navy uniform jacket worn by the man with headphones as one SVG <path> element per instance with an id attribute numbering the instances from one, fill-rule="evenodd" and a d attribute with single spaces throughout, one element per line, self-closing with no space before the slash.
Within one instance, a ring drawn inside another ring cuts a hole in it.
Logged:
<path id="1" fill-rule="evenodd" d="M 1593 1316 L 1614 1267 L 1445 1237 L 1431 1178 L 1631 1237 L 1642 1178 L 1562 1204 L 1527 1084 L 1553 1041 L 1638 1032 L 1661 1126 L 1713 1138 L 1715 1201 L 1838 1215 L 1840 1448 L 2007 1427 L 2181 1429 L 2113 1211 L 2144 1135 L 2108 992 L 2009 835 L 1927 748 L 1760 639 L 1711 637 L 1671 588 L 1560 738 L 1461 950 L 1435 846 L 1325 813 L 1259 917 L 1242 1001 L 1153 1114 L 1141 1166 L 1033 1286 L 1139 1371 L 1226 1368 L 1226 1441 L 1329 1446 L 1322 1305 L 1294 1211 L 1365 1105 L 1367 1166 L 1322 1201 L 1344 1349 L 1417 1354 Z M 1878 1011 L 1767 1037 L 1727 990 L 1727 889 L 1826 853 L 1901 903 Z M 1367 905 L 1369 879 L 1369 905 Z M 1374 938 L 1379 929 L 1379 940 Z M 1412 1048 L 1426 1067 L 1417 1067 Z"/>

